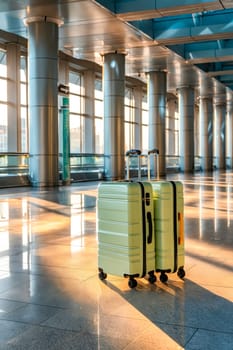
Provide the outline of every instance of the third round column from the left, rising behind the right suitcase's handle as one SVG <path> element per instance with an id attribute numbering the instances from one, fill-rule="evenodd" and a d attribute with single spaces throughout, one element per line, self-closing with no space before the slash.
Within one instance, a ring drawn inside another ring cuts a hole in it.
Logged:
<path id="1" fill-rule="evenodd" d="M 159 150 L 159 175 L 166 174 L 166 95 L 167 73 L 163 71 L 148 74 L 149 107 L 149 150 Z M 152 177 L 155 176 L 156 162 L 151 163 Z"/>

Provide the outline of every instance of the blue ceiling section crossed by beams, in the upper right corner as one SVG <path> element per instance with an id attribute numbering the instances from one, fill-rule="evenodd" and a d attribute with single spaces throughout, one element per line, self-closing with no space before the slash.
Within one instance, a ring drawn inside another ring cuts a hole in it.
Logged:
<path id="1" fill-rule="evenodd" d="M 233 1 L 97 2 L 153 39 L 155 44 L 167 46 L 232 88 L 233 67 L 229 61 L 233 61 Z"/>

